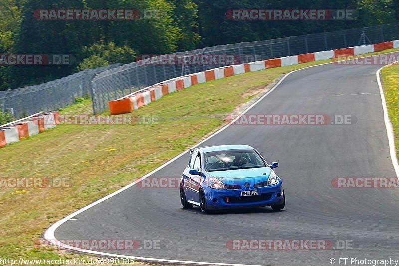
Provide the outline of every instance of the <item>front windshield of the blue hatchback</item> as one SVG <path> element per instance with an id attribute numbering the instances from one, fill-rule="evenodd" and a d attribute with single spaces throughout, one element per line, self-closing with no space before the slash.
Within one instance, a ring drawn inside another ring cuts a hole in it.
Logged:
<path id="1" fill-rule="evenodd" d="M 265 163 L 254 149 L 237 149 L 205 153 L 208 171 L 225 171 L 265 167 Z"/>

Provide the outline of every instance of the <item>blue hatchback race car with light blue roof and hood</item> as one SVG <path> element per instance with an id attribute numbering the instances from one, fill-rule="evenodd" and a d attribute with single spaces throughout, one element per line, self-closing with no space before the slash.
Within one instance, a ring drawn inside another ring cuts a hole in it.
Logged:
<path id="1" fill-rule="evenodd" d="M 214 209 L 285 206 L 282 180 L 254 148 L 218 145 L 190 149 L 190 160 L 180 180 L 183 208 Z"/>

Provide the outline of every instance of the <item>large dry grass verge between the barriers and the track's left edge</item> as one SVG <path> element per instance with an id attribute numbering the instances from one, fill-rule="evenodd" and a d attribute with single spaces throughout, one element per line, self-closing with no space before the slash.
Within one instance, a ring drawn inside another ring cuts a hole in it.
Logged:
<path id="1" fill-rule="evenodd" d="M 64 178 L 69 187 L 0 188 L 0 257 L 87 258 L 51 249 L 38 250 L 33 243 L 52 223 L 198 143 L 222 126 L 227 114 L 253 98 L 259 88 L 292 70 L 329 61 L 250 72 L 195 85 L 131 114 L 158 116 L 159 124 L 58 125 L 1 148 L 0 177 Z M 396 108 L 397 103 L 396 100 Z M 62 113 L 89 114 L 90 108 L 90 101 L 85 100 Z M 398 110 L 392 110 L 390 114 L 398 118 Z"/>

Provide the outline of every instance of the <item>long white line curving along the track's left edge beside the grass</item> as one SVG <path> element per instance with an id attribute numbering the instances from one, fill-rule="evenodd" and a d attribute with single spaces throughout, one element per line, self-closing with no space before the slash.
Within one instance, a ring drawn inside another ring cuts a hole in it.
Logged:
<path id="1" fill-rule="evenodd" d="M 389 52 L 389 53 L 384 53 L 384 54 L 390 54 L 390 53 L 396 53 L 398 51 L 394 51 L 394 52 Z M 371 55 L 371 57 L 373 56 L 379 56 L 381 54 L 377 54 L 377 55 Z M 348 59 L 350 60 L 350 59 Z M 311 68 L 311 67 L 316 67 L 316 66 L 322 66 L 322 65 L 327 65 L 327 64 L 332 64 L 334 62 L 328 62 L 328 63 L 323 63 L 323 64 L 317 64 L 317 65 L 311 65 L 311 66 L 307 66 L 304 68 L 300 68 L 300 69 L 296 69 L 293 70 L 287 74 L 285 74 L 268 92 L 266 92 L 262 97 L 260 97 L 256 102 L 254 102 L 253 104 L 251 104 L 248 108 L 246 108 L 242 113 L 240 113 L 235 119 L 233 119 L 232 121 L 230 121 L 230 123 L 228 123 L 227 125 L 225 125 L 224 127 L 222 127 L 221 129 L 219 129 L 218 131 L 216 131 L 215 133 L 211 134 L 209 137 L 205 138 L 204 140 L 200 141 L 199 143 L 197 143 L 196 145 L 193 146 L 194 147 L 198 147 L 200 144 L 202 144 L 203 142 L 211 139 L 212 137 L 216 136 L 217 134 L 219 134 L 220 132 L 224 131 L 226 128 L 228 128 L 231 124 L 233 124 L 236 120 L 238 120 L 240 118 L 241 115 L 247 113 L 250 109 L 252 109 L 255 105 L 257 105 L 260 101 L 262 101 L 267 95 L 269 95 L 272 91 L 274 91 L 274 89 L 276 89 L 281 82 L 284 81 L 285 78 L 287 78 L 290 74 L 300 71 L 300 70 L 304 70 L 307 68 Z M 380 68 L 381 69 L 381 68 Z M 379 69 L 379 70 L 380 70 Z M 379 71 L 377 70 L 377 71 Z M 381 92 L 380 92 L 381 94 Z M 384 100 L 385 103 L 385 100 Z M 384 105 L 384 104 L 383 104 Z M 386 107 L 385 107 L 386 108 Z M 385 117 L 385 114 L 384 114 Z M 385 119 L 384 119 L 385 120 Z M 387 134 L 388 134 L 388 130 L 387 130 Z M 395 144 L 395 143 L 394 143 Z M 391 147 L 391 145 L 390 145 Z M 394 146 L 394 150 L 395 150 L 395 146 Z M 127 255 L 120 255 L 120 254 L 112 254 L 112 253 L 104 253 L 104 252 L 97 252 L 97 251 L 92 251 L 92 250 L 85 250 L 85 249 L 80 249 L 77 247 L 72 247 L 69 245 L 65 245 L 63 243 L 61 243 L 60 241 L 58 241 L 55 238 L 55 230 L 60 227 L 63 223 L 65 223 L 66 221 L 68 221 L 69 219 L 73 218 L 74 216 L 90 209 L 91 207 L 127 190 L 128 188 L 134 186 L 135 184 L 137 184 L 138 182 L 142 181 L 143 179 L 149 177 L 150 175 L 154 174 L 155 172 L 161 170 L 162 168 L 164 168 L 165 166 L 171 164 L 172 162 L 174 162 L 175 160 L 179 159 L 180 157 L 182 157 L 184 154 L 186 154 L 187 152 L 189 152 L 190 149 L 187 149 L 186 151 L 178 154 L 177 156 L 175 156 L 174 158 L 172 158 L 171 160 L 167 161 L 166 163 L 160 165 L 159 167 L 157 167 L 156 169 L 154 169 L 153 171 L 149 172 L 148 174 L 144 175 L 143 177 L 135 180 L 134 182 L 128 184 L 127 186 L 101 198 L 98 199 L 97 201 L 71 213 L 70 215 L 62 218 L 61 220 L 55 222 L 54 224 L 52 224 L 44 233 L 44 238 L 49 241 L 50 243 L 60 246 L 62 248 L 65 249 L 70 249 L 70 250 L 75 250 L 75 251 L 80 251 L 80 252 L 84 252 L 84 253 L 89 253 L 89 254 L 96 254 L 96 255 L 104 255 L 104 256 L 112 256 L 112 257 L 121 257 L 121 258 L 132 258 L 132 259 L 138 259 L 138 260 L 144 260 L 144 261 L 154 261 L 154 262 L 169 262 L 169 263 L 189 263 L 189 264 L 198 264 L 198 265 L 222 265 L 222 266 L 255 266 L 255 265 L 245 265 L 245 264 L 223 264 L 223 263 L 208 263 L 208 262 L 193 262 L 193 261 L 183 261 L 183 260 L 168 260 L 168 259 L 158 259 L 158 258 L 146 258 L 146 257 L 135 257 L 135 256 L 127 256 Z M 395 167 L 395 166 L 394 166 Z"/>

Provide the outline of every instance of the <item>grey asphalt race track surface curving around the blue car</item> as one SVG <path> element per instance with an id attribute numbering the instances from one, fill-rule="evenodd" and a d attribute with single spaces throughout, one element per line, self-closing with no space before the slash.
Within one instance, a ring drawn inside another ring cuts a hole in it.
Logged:
<path id="1" fill-rule="evenodd" d="M 252 265 L 331 265 L 330 258 L 399 259 L 399 189 L 335 188 L 334 177 L 395 177 L 376 71 L 326 64 L 289 75 L 247 114 L 354 115 L 351 125 L 231 125 L 205 145 L 249 144 L 279 162 L 286 208 L 204 215 L 181 208 L 178 188 L 133 186 L 62 224 L 58 240 L 160 240 L 140 257 Z M 133 143 L 132 143 L 133 145 Z M 202 146 L 202 145 L 201 145 Z M 180 177 L 185 155 L 152 177 Z M 93 199 L 94 200 L 94 199 Z M 228 240 L 352 241 L 352 249 L 231 250 Z M 341 264 L 342 265 L 342 264 Z"/>

